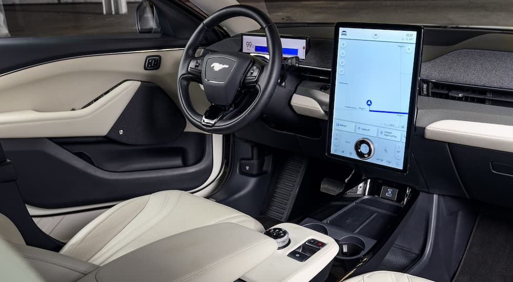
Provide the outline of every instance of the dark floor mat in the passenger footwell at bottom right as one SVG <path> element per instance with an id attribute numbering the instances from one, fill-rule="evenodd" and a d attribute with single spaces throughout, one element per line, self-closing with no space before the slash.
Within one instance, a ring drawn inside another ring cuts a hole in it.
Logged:
<path id="1" fill-rule="evenodd" d="M 513 280 L 513 221 L 481 214 L 453 282 Z"/>

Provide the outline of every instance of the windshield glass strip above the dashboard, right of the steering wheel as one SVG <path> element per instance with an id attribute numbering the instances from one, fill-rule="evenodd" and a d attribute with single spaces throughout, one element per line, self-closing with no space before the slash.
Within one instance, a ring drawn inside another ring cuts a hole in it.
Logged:
<path id="1" fill-rule="evenodd" d="M 513 27 L 513 0 L 239 0 L 276 23 L 373 22 Z"/>

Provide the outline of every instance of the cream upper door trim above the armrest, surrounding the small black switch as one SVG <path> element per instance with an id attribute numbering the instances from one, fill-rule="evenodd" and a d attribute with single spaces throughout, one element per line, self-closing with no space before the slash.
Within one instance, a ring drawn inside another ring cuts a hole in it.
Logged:
<path id="1" fill-rule="evenodd" d="M 177 103 L 176 75 L 182 52 L 182 49 L 166 49 L 87 55 L 5 73 L 0 75 L 0 113 L 81 109 L 127 79 L 154 83 Z M 153 55 L 162 57 L 161 67 L 145 70 L 145 58 Z M 204 91 L 198 84 L 191 84 L 189 89 L 194 108 L 204 112 L 210 106 Z M 116 114 L 121 114 L 123 109 Z M 10 128 L 0 127 L 0 134 L 6 130 Z M 205 133 L 189 123 L 185 131 Z M 30 131 L 26 131 L 23 136 L 36 137 L 29 135 Z"/>

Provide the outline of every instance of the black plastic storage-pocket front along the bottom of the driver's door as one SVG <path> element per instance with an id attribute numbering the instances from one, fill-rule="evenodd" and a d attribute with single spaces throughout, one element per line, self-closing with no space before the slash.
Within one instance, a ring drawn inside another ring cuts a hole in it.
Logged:
<path id="1" fill-rule="evenodd" d="M 162 190 L 192 190 L 206 182 L 213 167 L 210 135 L 205 155 L 196 165 L 134 172 L 98 169 L 46 138 L 1 142 L 16 166 L 25 203 L 49 209 L 115 202 Z"/>

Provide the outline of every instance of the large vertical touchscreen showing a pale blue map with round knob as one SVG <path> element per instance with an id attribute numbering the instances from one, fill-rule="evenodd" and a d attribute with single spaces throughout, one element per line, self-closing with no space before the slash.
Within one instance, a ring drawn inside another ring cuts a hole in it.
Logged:
<path id="1" fill-rule="evenodd" d="M 338 23 L 328 156 L 406 173 L 422 27 Z"/>

